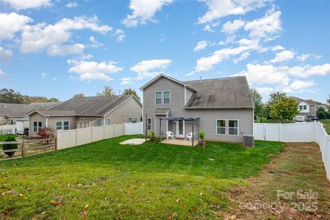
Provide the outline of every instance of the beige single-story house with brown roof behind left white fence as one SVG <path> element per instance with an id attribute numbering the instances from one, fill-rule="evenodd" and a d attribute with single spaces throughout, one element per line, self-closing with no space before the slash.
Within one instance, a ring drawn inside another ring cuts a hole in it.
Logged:
<path id="1" fill-rule="evenodd" d="M 47 110 L 34 110 L 30 116 L 30 136 L 42 127 L 56 130 L 83 129 L 103 124 L 140 122 L 142 104 L 135 96 L 93 96 L 72 98 Z"/>

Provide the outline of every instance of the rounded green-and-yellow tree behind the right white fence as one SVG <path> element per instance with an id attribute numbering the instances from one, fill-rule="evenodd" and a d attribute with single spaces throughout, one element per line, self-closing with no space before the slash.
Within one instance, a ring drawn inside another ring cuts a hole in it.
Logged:
<path id="1" fill-rule="evenodd" d="M 274 120 L 292 120 L 299 113 L 298 105 L 293 98 L 281 96 L 270 105 L 270 117 Z"/>

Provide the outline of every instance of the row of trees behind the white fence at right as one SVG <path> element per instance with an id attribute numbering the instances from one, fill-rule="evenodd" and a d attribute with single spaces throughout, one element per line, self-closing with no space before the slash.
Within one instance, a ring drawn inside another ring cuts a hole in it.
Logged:
<path id="1" fill-rule="evenodd" d="M 250 89 L 254 101 L 254 119 L 263 120 L 292 120 L 294 116 L 298 115 L 299 103 L 294 98 L 287 97 L 285 93 L 276 92 L 270 94 L 267 102 L 263 103 L 263 97 L 256 89 Z M 309 100 L 315 102 L 314 100 Z M 315 102 L 320 104 L 320 102 Z M 316 116 L 320 119 L 330 118 L 330 95 L 327 99 L 328 111 L 320 107 Z"/>

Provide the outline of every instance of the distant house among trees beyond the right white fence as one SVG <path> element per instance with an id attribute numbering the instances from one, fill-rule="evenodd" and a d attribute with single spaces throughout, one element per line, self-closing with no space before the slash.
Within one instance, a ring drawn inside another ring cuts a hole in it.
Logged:
<path id="1" fill-rule="evenodd" d="M 302 115 L 302 116 L 311 115 L 311 116 L 315 117 L 316 111 L 318 111 L 318 109 L 320 107 L 323 107 L 327 110 L 327 104 L 322 104 L 320 102 L 315 102 L 313 100 L 303 100 L 303 99 L 295 97 L 295 96 L 290 96 L 290 98 L 293 98 L 294 100 L 296 100 L 296 102 L 299 103 L 298 115 Z"/>

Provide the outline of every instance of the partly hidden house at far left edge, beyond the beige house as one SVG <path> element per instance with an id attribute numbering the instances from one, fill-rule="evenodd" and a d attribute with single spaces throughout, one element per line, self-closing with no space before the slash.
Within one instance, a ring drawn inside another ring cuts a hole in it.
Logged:
<path id="1" fill-rule="evenodd" d="M 30 104 L 0 103 L 0 124 L 16 124 L 17 119 L 24 118 L 34 109 L 47 109 L 59 102 L 32 102 Z"/>

